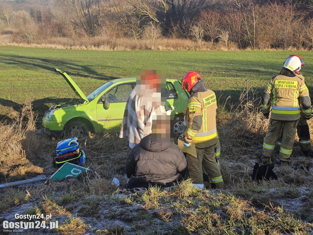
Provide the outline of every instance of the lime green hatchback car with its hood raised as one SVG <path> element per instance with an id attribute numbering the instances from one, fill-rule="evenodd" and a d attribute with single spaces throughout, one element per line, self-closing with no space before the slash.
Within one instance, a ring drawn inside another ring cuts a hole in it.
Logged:
<path id="1" fill-rule="evenodd" d="M 64 72 L 55 69 L 67 81 L 80 98 L 76 102 L 57 104 L 44 114 L 45 133 L 83 136 L 91 133 L 119 131 L 121 128 L 127 99 L 136 86 L 136 78 L 119 78 L 108 81 L 87 97 L 76 83 Z M 187 107 L 189 94 L 182 89 L 181 82 L 167 79 L 167 101 L 165 109 L 172 109 L 174 134 L 184 132 L 183 110 Z"/>

